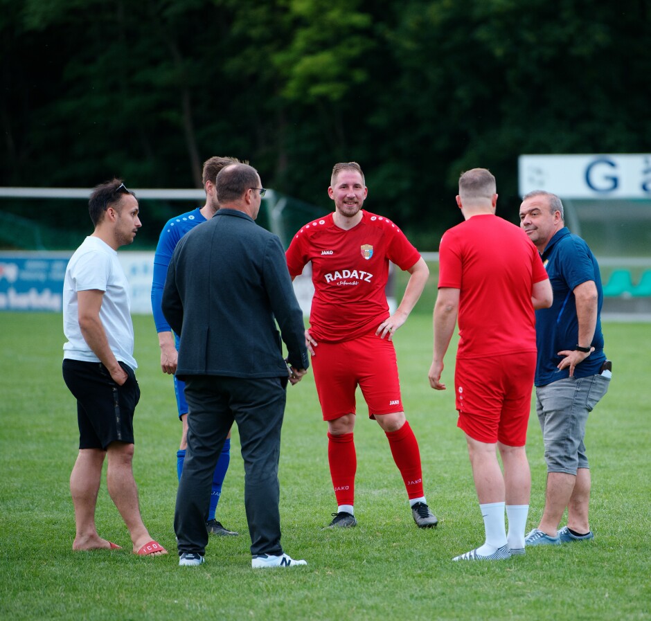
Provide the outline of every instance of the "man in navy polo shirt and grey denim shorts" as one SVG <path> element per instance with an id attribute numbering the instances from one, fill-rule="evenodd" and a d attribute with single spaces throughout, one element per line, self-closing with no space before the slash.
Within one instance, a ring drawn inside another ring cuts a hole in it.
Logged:
<path id="1" fill-rule="evenodd" d="M 550 192 L 526 195 L 520 226 L 542 255 L 551 281 L 551 308 L 536 311 L 536 411 L 542 429 L 547 487 L 542 519 L 527 546 L 587 541 L 590 470 L 585 454 L 589 413 L 606 394 L 612 364 L 603 351 L 599 266 L 588 245 L 572 235 L 563 205 Z M 567 526 L 558 525 L 567 507 Z"/>

